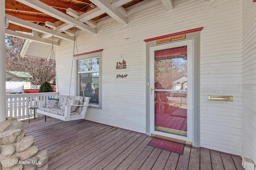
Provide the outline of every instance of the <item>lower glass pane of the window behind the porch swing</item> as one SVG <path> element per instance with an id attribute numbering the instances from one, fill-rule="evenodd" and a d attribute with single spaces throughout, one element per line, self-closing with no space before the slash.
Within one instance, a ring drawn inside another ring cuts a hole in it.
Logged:
<path id="1" fill-rule="evenodd" d="M 92 104 L 99 104 L 99 73 L 80 74 L 80 96 L 90 97 Z"/>

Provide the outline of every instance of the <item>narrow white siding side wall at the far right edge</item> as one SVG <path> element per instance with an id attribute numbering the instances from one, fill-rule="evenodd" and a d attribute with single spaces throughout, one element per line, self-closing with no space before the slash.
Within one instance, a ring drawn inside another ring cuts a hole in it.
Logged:
<path id="1" fill-rule="evenodd" d="M 243 1 L 242 155 L 256 163 L 256 3 Z"/>

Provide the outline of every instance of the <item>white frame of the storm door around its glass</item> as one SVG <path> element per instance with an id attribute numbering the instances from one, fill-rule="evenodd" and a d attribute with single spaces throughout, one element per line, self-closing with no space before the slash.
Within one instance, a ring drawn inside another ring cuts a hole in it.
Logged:
<path id="1" fill-rule="evenodd" d="M 182 141 L 188 141 L 193 143 L 193 133 L 194 133 L 194 100 L 192 100 L 194 96 L 194 50 L 193 50 L 193 44 L 194 44 L 194 39 L 186 39 L 182 41 L 174 41 L 171 43 L 163 43 L 159 45 L 154 45 L 150 46 L 150 88 L 151 86 L 154 89 L 154 71 L 155 71 L 155 66 L 154 66 L 154 58 L 155 58 L 155 51 L 159 50 L 164 50 L 164 49 L 172 49 L 176 47 L 182 47 L 182 46 L 187 46 L 187 61 L 188 61 L 188 103 L 187 103 L 187 136 L 182 136 L 182 135 L 176 135 L 172 133 L 167 133 L 167 132 L 161 132 L 161 131 L 156 131 L 155 130 L 155 98 L 154 98 L 154 93 L 151 94 L 150 91 L 150 135 L 160 135 L 168 138 L 173 138 L 173 139 L 178 139 Z M 154 90 L 153 90 L 154 91 Z"/>

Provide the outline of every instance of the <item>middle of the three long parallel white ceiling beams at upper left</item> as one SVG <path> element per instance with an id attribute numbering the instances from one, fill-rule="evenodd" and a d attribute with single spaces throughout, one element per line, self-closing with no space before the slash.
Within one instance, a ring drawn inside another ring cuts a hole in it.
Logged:
<path id="1" fill-rule="evenodd" d="M 61 39 L 65 39 L 68 41 L 73 41 L 73 37 L 66 35 L 64 33 L 60 33 L 58 31 L 54 31 L 52 29 L 46 28 L 46 27 L 42 27 L 41 25 L 37 25 L 35 23 L 29 22 L 29 21 L 25 21 L 22 20 L 20 18 L 16 18 L 14 16 L 10 16 L 8 14 L 5 15 L 8 19 L 10 23 L 13 23 L 15 25 L 19 25 L 22 27 L 26 27 L 35 31 L 39 31 L 41 33 L 46 33 L 46 34 L 50 34 L 51 36 L 54 35 L 55 37 L 59 37 Z"/>

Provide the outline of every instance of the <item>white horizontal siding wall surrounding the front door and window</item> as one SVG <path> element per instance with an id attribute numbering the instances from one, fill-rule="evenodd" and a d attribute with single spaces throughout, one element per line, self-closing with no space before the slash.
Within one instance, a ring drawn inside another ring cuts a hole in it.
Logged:
<path id="1" fill-rule="evenodd" d="M 80 33 L 78 53 L 102 51 L 102 109 L 89 108 L 86 119 L 145 133 L 146 43 L 144 39 L 204 27 L 201 31 L 201 146 L 240 154 L 241 0 L 174 0 L 166 12 L 160 0 L 128 9 L 128 25 L 112 18 L 98 23 L 97 35 Z M 61 94 L 68 94 L 73 44 L 57 49 Z M 127 64 L 126 79 L 116 79 L 116 62 Z M 74 69 L 74 68 L 73 68 Z M 73 70 L 74 71 L 74 70 Z M 72 78 L 74 84 L 74 78 Z M 74 86 L 72 86 L 74 91 Z M 223 91 L 234 102 L 209 102 Z"/>

